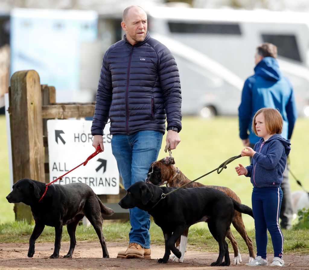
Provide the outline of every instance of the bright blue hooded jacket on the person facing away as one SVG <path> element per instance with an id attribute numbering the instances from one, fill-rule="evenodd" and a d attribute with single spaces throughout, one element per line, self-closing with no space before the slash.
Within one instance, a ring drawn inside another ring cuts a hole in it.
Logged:
<path id="1" fill-rule="evenodd" d="M 239 106 L 239 137 L 249 138 L 255 144 L 259 137 L 252 132 L 252 119 L 264 107 L 278 109 L 283 118 L 282 137 L 290 139 L 297 118 L 293 87 L 281 74 L 278 62 L 273 57 L 264 57 L 254 68 L 255 74 L 243 86 Z M 249 130 L 249 134 L 248 134 Z"/>

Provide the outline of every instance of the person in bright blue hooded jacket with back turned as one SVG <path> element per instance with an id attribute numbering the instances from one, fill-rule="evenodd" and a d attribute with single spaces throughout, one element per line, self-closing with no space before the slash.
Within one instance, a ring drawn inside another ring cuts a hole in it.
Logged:
<path id="1" fill-rule="evenodd" d="M 249 77 L 243 86 L 239 106 L 239 137 L 244 146 L 253 146 L 259 138 L 252 132 L 254 114 L 263 107 L 276 108 L 283 118 L 282 137 L 291 139 L 297 118 L 293 87 L 288 78 L 281 74 L 277 57 L 277 47 L 263 43 L 255 54 L 255 74 Z M 293 205 L 289 183 L 289 171 L 286 169 L 281 184 L 283 199 L 280 210 L 281 228 L 289 229 L 293 217 Z"/>

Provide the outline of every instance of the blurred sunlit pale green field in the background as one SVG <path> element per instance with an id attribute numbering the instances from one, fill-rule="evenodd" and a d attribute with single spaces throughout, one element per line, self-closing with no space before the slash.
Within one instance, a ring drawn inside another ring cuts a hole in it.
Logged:
<path id="1" fill-rule="evenodd" d="M 216 117 L 205 120 L 198 117 L 183 117 L 183 129 L 180 132 L 181 142 L 176 150 L 172 151 L 175 158 L 175 166 L 189 178 L 196 179 L 205 173 L 217 168 L 226 159 L 240 154 L 243 148 L 238 137 L 237 117 Z M 10 192 L 8 148 L 6 138 L 5 116 L 0 115 L 0 175 L 2 178 L 0 189 L 0 223 L 14 220 L 13 204 L 9 204 L 6 195 Z M 309 133 L 309 119 L 299 118 L 296 122 L 291 140 L 291 171 L 301 181 L 303 187 L 309 190 L 309 174 L 307 173 L 307 153 L 309 144 L 307 137 Z M 159 159 L 168 156 L 164 152 L 165 137 L 163 138 L 162 149 Z M 90 154 L 92 149 L 90 149 Z M 238 163 L 247 166 L 249 158 L 236 159 L 227 165 L 227 169 L 221 174 L 213 172 L 199 181 L 203 184 L 227 186 L 234 190 L 242 202 L 251 206 L 252 184 L 250 179 L 244 176 L 237 176 L 234 167 Z M 292 191 L 301 190 L 295 179 L 290 175 Z M 253 228 L 253 219 L 243 215 L 244 222 L 248 229 Z"/>

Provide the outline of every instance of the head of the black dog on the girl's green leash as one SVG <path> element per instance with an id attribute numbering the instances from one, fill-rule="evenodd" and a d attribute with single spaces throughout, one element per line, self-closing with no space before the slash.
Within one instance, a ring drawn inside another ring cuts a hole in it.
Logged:
<path id="1" fill-rule="evenodd" d="M 159 200 L 162 194 L 162 191 L 161 193 L 156 192 L 155 188 L 159 187 L 139 181 L 128 188 L 127 194 L 118 204 L 124 209 L 138 207 L 139 209 L 147 211 L 155 205 L 156 200 Z M 159 199 L 157 199 L 157 197 L 159 197 Z"/>

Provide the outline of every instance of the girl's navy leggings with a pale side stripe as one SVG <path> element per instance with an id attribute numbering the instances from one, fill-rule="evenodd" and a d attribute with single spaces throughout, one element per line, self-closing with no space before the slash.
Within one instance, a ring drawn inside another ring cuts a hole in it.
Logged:
<path id="1" fill-rule="evenodd" d="M 273 242 L 274 257 L 282 257 L 283 234 L 279 226 L 281 188 L 253 188 L 252 210 L 255 225 L 257 256 L 266 259 L 267 230 Z"/>

